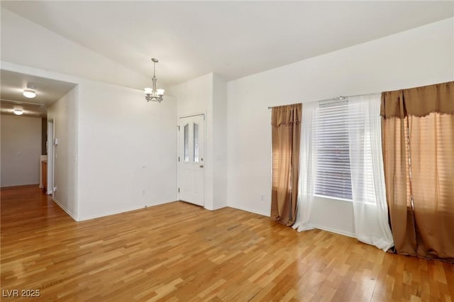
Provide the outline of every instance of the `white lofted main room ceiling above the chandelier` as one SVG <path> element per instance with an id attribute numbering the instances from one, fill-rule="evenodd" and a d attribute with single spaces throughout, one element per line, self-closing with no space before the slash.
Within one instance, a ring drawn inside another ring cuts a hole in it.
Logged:
<path id="1" fill-rule="evenodd" d="M 454 16 L 453 1 L 1 1 L 167 85 L 232 80 Z M 58 71 L 58 70 L 56 70 Z"/>

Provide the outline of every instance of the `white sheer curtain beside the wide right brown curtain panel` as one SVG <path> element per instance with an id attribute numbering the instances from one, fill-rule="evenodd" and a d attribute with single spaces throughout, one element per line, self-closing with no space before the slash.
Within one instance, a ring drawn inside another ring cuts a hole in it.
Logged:
<path id="1" fill-rule="evenodd" d="M 384 186 L 380 97 L 348 98 L 348 140 L 356 237 L 387 251 L 394 242 Z"/>

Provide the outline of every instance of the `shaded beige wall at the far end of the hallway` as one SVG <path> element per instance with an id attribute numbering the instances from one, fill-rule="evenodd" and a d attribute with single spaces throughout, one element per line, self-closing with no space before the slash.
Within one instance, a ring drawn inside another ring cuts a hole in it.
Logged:
<path id="1" fill-rule="evenodd" d="M 39 184 L 41 118 L 1 115 L 1 186 Z"/>

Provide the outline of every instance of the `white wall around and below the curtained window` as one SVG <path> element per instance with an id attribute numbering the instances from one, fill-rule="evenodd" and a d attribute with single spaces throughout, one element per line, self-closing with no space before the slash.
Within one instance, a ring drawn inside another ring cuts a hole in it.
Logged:
<path id="1" fill-rule="evenodd" d="M 450 18 L 228 82 L 228 206 L 270 214 L 267 106 L 453 81 L 453 53 Z M 311 219 L 319 228 L 353 235 L 352 213 L 348 202 L 323 199 Z"/>

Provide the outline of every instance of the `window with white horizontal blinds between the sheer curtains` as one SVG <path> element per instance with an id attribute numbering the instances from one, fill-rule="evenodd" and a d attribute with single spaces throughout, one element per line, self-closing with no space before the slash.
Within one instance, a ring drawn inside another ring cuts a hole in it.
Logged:
<path id="1" fill-rule="evenodd" d="M 314 127 L 315 194 L 351 200 L 348 101 L 319 103 L 319 116 Z"/>

